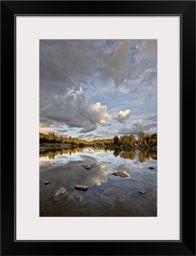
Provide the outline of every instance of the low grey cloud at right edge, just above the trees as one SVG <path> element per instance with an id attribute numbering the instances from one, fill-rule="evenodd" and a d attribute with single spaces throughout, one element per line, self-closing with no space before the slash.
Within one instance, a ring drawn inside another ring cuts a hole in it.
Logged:
<path id="1" fill-rule="evenodd" d="M 139 132 L 146 134 L 153 134 L 157 132 L 157 120 L 155 116 L 147 118 L 146 120 L 139 119 L 130 124 L 124 125 L 123 129 L 119 131 L 119 134 L 134 134 L 137 136 Z"/>

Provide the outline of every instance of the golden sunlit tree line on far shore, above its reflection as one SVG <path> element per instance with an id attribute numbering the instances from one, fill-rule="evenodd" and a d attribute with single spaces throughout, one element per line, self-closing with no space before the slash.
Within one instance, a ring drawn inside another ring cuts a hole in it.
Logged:
<path id="1" fill-rule="evenodd" d="M 84 147 L 85 145 L 98 145 L 98 146 L 116 146 L 116 147 L 156 147 L 157 145 L 157 134 L 145 134 L 140 132 L 137 139 L 133 134 L 122 135 L 118 137 L 115 135 L 112 139 L 102 139 L 102 140 L 82 140 L 80 138 L 62 137 L 57 136 L 54 132 L 49 132 L 49 134 L 43 134 L 40 132 L 40 144 L 42 143 L 69 143 L 71 145 L 79 145 L 79 147 Z"/>

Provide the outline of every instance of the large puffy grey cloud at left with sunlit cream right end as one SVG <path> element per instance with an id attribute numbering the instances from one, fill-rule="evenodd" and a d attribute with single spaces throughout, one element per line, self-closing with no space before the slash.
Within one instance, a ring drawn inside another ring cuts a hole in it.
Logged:
<path id="1" fill-rule="evenodd" d="M 111 118 L 107 106 L 89 102 L 81 87 L 68 90 L 66 95 L 51 97 L 40 109 L 40 116 L 68 127 L 81 127 L 81 132 L 94 131 L 98 124 Z"/>

